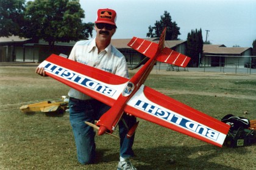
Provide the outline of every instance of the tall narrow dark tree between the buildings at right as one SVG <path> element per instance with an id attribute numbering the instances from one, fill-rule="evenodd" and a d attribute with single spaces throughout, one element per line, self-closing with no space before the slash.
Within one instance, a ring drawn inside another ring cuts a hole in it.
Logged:
<path id="1" fill-rule="evenodd" d="M 191 57 L 190 66 L 198 66 L 199 54 L 202 54 L 203 46 L 202 29 L 191 30 L 187 37 L 187 55 Z"/>

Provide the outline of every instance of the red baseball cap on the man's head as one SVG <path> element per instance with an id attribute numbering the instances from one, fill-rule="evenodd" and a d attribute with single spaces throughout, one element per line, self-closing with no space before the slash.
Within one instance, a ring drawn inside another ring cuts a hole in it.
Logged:
<path id="1" fill-rule="evenodd" d="M 116 12 L 112 9 L 99 9 L 95 23 L 116 25 Z"/>

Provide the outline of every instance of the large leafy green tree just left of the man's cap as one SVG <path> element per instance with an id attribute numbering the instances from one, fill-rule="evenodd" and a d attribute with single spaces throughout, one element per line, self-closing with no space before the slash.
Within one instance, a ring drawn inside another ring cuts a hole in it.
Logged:
<path id="1" fill-rule="evenodd" d="M 23 36 L 44 39 L 50 47 L 55 42 L 77 41 L 92 36 L 93 23 L 85 24 L 79 0 L 29 1 L 25 10 Z"/>

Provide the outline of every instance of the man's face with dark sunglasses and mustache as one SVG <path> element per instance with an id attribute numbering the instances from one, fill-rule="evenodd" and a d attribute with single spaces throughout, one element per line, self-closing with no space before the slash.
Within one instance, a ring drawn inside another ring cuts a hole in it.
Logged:
<path id="1" fill-rule="evenodd" d="M 110 40 L 116 32 L 115 25 L 98 23 L 95 24 L 94 29 L 96 30 L 96 38 Z"/>

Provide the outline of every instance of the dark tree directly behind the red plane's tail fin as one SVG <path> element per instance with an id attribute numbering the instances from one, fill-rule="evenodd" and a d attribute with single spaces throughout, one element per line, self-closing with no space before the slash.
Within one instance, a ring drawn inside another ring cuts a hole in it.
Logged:
<path id="1" fill-rule="evenodd" d="M 161 16 L 160 21 L 155 21 L 155 26 L 152 27 L 149 25 L 149 32 L 147 33 L 147 37 L 160 37 L 163 29 L 166 27 L 166 40 L 178 40 L 178 36 L 180 35 L 180 27 L 177 26 L 176 22 L 171 21 L 171 15 L 165 11 L 165 13 Z"/>

